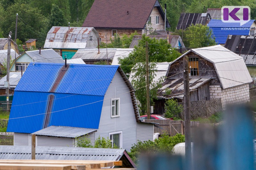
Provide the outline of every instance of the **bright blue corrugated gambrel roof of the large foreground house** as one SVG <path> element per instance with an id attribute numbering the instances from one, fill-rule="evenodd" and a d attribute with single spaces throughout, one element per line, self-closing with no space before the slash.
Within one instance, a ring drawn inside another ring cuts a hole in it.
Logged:
<path id="1" fill-rule="evenodd" d="M 15 89 L 8 132 L 33 133 L 43 129 L 51 102 L 48 126 L 99 128 L 104 95 L 118 66 L 69 64 L 60 80 L 62 66 L 29 64 Z M 53 88 L 56 83 L 58 86 Z"/>

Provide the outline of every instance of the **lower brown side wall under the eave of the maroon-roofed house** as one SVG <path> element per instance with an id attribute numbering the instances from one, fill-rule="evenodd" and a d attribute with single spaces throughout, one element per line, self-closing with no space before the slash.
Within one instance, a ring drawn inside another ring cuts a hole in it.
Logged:
<path id="1" fill-rule="evenodd" d="M 106 43 L 106 33 L 108 38 L 108 43 L 110 43 L 110 37 L 113 40 L 114 37 L 112 37 L 112 30 L 117 30 L 117 34 L 122 37 L 122 34 L 127 34 L 128 36 L 137 31 L 138 34 L 142 34 L 142 30 L 133 30 L 133 29 L 102 29 L 102 28 L 95 28 L 96 31 L 99 33 L 99 37 L 101 38 L 101 42 Z M 144 33 L 144 31 L 143 31 Z M 98 43 L 98 42 L 97 42 Z M 120 48 L 120 47 L 118 47 Z"/>

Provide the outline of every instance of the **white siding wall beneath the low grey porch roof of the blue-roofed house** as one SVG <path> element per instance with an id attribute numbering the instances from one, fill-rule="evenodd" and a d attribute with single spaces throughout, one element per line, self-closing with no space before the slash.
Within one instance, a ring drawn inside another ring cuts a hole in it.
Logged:
<path id="1" fill-rule="evenodd" d="M 73 138 L 37 136 L 37 146 L 73 147 Z"/>

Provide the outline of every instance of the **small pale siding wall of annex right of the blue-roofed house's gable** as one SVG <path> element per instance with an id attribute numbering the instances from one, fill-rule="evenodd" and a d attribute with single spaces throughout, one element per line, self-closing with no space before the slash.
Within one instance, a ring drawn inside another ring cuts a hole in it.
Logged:
<path id="1" fill-rule="evenodd" d="M 137 123 L 136 137 L 137 141 L 153 141 L 154 125 L 148 123 Z"/>

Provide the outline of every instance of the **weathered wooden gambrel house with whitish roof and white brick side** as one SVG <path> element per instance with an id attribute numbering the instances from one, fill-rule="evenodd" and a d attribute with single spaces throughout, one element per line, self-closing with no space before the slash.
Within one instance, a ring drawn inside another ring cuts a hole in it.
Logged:
<path id="1" fill-rule="evenodd" d="M 158 90 L 157 107 L 164 112 L 166 99 L 183 102 L 183 57 L 188 56 L 190 101 L 220 98 L 227 104 L 247 102 L 252 78 L 243 57 L 221 45 L 191 49 L 174 60 Z"/>

